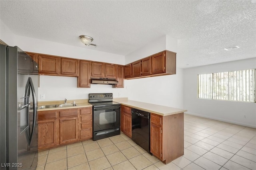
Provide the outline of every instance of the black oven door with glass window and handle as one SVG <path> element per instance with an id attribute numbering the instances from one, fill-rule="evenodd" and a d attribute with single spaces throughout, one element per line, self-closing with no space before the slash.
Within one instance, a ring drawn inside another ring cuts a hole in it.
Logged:
<path id="1" fill-rule="evenodd" d="M 120 127 L 120 105 L 94 107 L 93 131 L 102 131 Z"/>

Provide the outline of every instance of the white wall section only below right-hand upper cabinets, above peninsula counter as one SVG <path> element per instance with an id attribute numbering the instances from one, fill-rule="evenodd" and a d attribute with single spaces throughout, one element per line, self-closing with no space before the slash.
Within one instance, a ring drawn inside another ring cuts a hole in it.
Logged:
<path id="1" fill-rule="evenodd" d="M 175 75 L 126 80 L 129 100 L 183 109 L 183 69 Z M 186 109 L 186 108 L 184 108 Z"/>

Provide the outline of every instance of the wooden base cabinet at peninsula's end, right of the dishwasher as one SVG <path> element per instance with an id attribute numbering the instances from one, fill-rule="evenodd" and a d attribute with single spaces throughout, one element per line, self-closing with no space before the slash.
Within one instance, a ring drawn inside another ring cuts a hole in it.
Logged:
<path id="1" fill-rule="evenodd" d="M 150 113 L 150 152 L 165 164 L 184 154 L 184 113 Z"/>

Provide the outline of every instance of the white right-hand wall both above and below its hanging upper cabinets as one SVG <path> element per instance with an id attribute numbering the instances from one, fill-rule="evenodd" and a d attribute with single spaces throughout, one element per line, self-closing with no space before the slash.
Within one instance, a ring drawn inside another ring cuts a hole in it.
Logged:
<path id="1" fill-rule="evenodd" d="M 132 63 L 164 50 L 177 52 L 177 39 L 168 35 L 160 37 L 153 43 L 126 55 L 125 63 Z M 178 55 L 176 57 L 178 58 Z M 130 100 L 184 108 L 182 69 L 177 68 L 175 75 L 127 80 L 125 86 Z"/>

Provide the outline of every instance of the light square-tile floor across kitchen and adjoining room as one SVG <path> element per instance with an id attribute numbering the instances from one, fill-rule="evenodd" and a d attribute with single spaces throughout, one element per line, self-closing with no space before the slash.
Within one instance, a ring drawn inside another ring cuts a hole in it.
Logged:
<path id="1" fill-rule="evenodd" d="M 256 170 L 256 129 L 185 114 L 184 155 L 169 164 L 121 133 L 39 152 L 36 169 Z"/>

